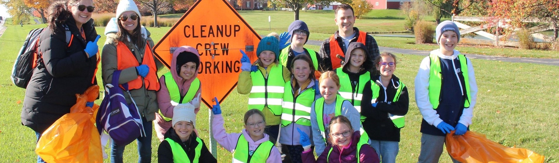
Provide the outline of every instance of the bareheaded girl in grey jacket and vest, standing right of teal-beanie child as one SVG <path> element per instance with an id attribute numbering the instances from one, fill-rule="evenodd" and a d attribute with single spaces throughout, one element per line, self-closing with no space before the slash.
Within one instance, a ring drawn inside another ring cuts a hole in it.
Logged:
<path id="1" fill-rule="evenodd" d="M 312 60 L 307 55 L 297 55 L 293 58 L 291 72 L 293 73 L 291 80 L 285 84 L 283 92 L 283 110 L 281 116 L 281 130 L 279 142 L 281 143 L 284 154 L 287 154 L 287 160 L 293 163 L 302 162 L 301 152 L 304 146 L 299 142 L 299 132 L 296 128 L 300 128 L 301 132 L 310 135 L 311 132 L 311 106 L 312 103 L 320 98 L 315 92 L 315 67 Z M 318 83 L 318 82 L 316 82 Z M 309 148 L 311 145 L 309 144 Z"/>

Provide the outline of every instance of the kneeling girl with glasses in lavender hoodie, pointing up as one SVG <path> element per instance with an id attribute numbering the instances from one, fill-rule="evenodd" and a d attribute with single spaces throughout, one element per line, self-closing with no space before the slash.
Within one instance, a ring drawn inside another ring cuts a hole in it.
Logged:
<path id="1" fill-rule="evenodd" d="M 214 122 L 214 138 L 225 150 L 233 153 L 233 162 L 272 163 L 282 162 L 280 151 L 264 133 L 266 118 L 258 109 L 250 109 L 244 114 L 244 129 L 241 133 L 227 133 L 223 127 L 224 119 L 221 116 L 221 106 L 217 98 L 212 106 Z"/>

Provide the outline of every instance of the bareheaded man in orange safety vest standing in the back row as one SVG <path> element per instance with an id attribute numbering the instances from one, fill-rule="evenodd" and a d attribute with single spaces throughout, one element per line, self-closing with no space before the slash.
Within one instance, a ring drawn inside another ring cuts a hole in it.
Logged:
<path id="1" fill-rule="evenodd" d="M 367 47 L 368 60 L 375 60 L 380 55 L 378 51 L 377 41 L 366 32 L 361 32 L 357 27 L 353 27 L 355 23 L 355 15 L 353 8 L 349 4 L 341 4 L 335 10 L 334 21 L 338 25 L 338 31 L 328 39 L 324 40 L 320 46 L 319 68 L 321 72 L 334 70 L 343 65 L 345 60 L 345 50 L 350 42 L 361 42 Z M 334 44 L 333 44 L 334 43 Z M 378 74 L 374 66 L 369 70 L 373 74 Z"/>

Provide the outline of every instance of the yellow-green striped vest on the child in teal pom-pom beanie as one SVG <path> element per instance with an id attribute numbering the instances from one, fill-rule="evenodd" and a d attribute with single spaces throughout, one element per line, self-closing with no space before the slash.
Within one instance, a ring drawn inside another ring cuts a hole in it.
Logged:
<path id="1" fill-rule="evenodd" d="M 250 73 L 253 86 L 248 99 L 248 109 L 259 109 L 262 111 L 267 106 L 274 115 L 280 116 L 283 86 L 285 85 L 283 66 L 274 65 L 269 66 L 268 69 L 271 69 L 268 79 L 264 78 L 260 69 Z"/>

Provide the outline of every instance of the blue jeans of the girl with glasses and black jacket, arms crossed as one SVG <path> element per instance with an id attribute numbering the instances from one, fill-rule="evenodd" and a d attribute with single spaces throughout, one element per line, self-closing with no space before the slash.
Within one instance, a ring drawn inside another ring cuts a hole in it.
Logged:
<path id="1" fill-rule="evenodd" d="M 398 150 L 400 149 L 397 141 L 371 140 L 371 146 L 377 151 L 377 155 L 382 163 L 396 162 L 396 155 L 398 155 Z"/>

